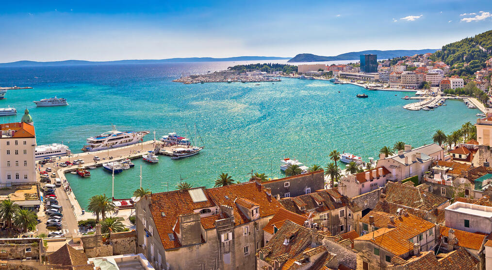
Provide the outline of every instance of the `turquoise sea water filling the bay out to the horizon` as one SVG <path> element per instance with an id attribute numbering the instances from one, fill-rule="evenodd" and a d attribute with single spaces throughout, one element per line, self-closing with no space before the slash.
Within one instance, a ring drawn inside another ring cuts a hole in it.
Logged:
<path id="1" fill-rule="evenodd" d="M 446 101 L 447 106 L 434 111 L 408 111 L 402 106 L 411 101 L 401 97 L 412 92 L 367 91 L 318 80 L 282 78 L 258 86 L 171 82 L 183 73 L 227 66 L 231 64 L 0 68 L 0 85 L 34 87 L 8 91 L 0 106 L 17 108 L 17 121 L 29 108 L 38 144 L 69 141 L 74 152 L 80 152 L 87 137 L 110 130 L 111 124 L 122 131 L 155 130 L 158 137 L 173 131 L 184 135 L 185 124 L 194 132 L 196 124 L 205 142 L 199 155 L 182 160 L 161 156 L 157 165 L 136 160 L 135 168 L 115 176 L 116 198 L 128 198 L 138 188 L 141 164 L 142 185 L 153 192 L 167 190 L 163 182 L 175 189 L 180 176 L 195 187 L 212 187 L 221 172 L 241 181 L 251 170 L 281 177 L 279 161 L 284 157 L 324 166 L 328 153 L 337 149 L 366 161 L 377 159 L 382 146 L 398 140 L 413 146 L 431 143 L 436 129 L 449 133 L 473 122 L 478 112 L 461 101 Z M 369 98 L 356 98 L 359 93 Z M 32 103 L 55 95 L 70 105 L 36 108 Z M 150 139 L 152 133 L 146 136 Z M 110 173 L 91 173 L 89 179 L 66 175 L 82 207 L 93 195 L 111 196 Z"/>

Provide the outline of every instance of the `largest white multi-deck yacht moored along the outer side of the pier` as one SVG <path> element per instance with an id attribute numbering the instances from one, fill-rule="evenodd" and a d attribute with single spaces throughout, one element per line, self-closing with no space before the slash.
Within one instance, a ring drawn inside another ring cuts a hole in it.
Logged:
<path id="1" fill-rule="evenodd" d="M 84 145 L 82 151 L 93 152 L 132 145 L 143 141 L 143 137 L 147 134 L 149 134 L 148 131 L 117 131 L 115 126 L 113 126 L 112 131 L 88 138 L 88 145 Z"/>

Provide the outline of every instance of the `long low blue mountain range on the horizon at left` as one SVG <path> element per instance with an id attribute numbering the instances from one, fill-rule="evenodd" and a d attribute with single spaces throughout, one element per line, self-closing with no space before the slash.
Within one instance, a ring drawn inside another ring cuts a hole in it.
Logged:
<path id="1" fill-rule="evenodd" d="M 212 57 L 189 57 L 189 58 L 169 58 L 160 60 L 118 60 L 118 61 L 84 61 L 84 60 L 65 60 L 52 62 L 36 61 L 17 61 L 10 63 L 0 63 L 0 67 L 41 67 L 41 66 L 75 66 L 75 65 L 114 65 L 114 64 L 154 64 L 154 63 L 182 63 L 182 62 L 221 62 L 221 61 L 263 61 L 263 60 L 283 60 L 290 57 L 275 56 L 237 56 L 227 58 Z"/>

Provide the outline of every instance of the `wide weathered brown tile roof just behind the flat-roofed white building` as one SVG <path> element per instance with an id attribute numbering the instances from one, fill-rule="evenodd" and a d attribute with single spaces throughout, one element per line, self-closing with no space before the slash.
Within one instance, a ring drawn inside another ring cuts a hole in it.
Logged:
<path id="1" fill-rule="evenodd" d="M 412 185 L 388 182 L 384 188 L 386 201 L 403 204 L 413 208 L 431 210 L 448 199 L 434 195 Z"/>

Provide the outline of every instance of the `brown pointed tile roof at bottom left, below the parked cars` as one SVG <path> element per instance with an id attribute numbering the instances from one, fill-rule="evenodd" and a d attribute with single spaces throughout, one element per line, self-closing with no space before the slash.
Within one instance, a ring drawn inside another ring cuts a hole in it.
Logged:
<path id="1" fill-rule="evenodd" d="M 48 255 L 50 265 L 64 266 L 69 270 L 92 270 L 94 266 L 87 264 L 87 255 L 69 244 L 64 244 L 57 251 Z"/>

